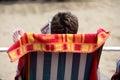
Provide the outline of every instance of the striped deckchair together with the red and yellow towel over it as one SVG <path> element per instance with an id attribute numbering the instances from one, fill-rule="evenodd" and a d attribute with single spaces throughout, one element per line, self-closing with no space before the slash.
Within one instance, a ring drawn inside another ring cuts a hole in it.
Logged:
<path id="1" fill-rule="evenodd" d="M 92 34 L 24 33 L 7 51 L 11 62 L 19 60 L 15 80 L 98 80 L 109 35 L 103 29 Z"/>

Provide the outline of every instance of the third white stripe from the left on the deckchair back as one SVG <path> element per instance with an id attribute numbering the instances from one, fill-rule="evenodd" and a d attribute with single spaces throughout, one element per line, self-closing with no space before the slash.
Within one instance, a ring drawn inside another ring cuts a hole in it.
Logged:
<path id="1" fill-rule="evenodd" d="M 66 54 L 65 77 L 64 80 L 71 80 L 73 53 Z"/>

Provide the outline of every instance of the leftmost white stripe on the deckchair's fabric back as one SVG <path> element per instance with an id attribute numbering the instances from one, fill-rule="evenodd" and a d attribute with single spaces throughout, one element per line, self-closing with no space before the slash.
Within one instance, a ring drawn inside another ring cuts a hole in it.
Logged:
<path id="1" fill-rule="evenodd" d="M 37 53 L 37 71 L 36 80 L 42 80 L 43 78 L 43 64 L 44 64 L 44 52 Z"/>

